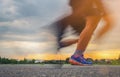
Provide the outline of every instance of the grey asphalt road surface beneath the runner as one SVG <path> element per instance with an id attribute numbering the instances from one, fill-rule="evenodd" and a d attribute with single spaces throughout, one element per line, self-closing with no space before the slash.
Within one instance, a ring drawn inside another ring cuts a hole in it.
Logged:
<path id="1" fill-rule="evenodd" d="M 120 77 L 120 66 L 0 65 L 0 77 Z"/>

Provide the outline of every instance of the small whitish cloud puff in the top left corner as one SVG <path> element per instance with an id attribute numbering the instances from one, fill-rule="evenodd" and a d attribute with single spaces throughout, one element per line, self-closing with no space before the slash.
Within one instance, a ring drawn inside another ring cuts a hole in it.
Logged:
<path id="1" fill-rule="evenodd" d="M 10 21 L 17 18 L 17 8 L 13 0 L 1 0 L 0 22 Z"/>

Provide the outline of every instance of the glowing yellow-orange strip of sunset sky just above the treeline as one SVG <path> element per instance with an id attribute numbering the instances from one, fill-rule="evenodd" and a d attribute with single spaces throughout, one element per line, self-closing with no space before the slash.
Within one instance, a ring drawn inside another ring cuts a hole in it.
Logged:
<path id="1" fill-rule="evenodd" d="M 64 54 L 30 54 L 27 55 L 25 58 L 27 59 L 42 59 L 42 60 L 65 60 L 66 58 L 70 57 L 72 54 L 64 53 Z M 92 59 L 117 59 L 120 55 L 119 50 L 108 50 L 108 51 L 93 51 L 93 52 L 86 52 L 86 58 Z M 24 59 L 23 56 L 15 56 L 17 59 Z"/>

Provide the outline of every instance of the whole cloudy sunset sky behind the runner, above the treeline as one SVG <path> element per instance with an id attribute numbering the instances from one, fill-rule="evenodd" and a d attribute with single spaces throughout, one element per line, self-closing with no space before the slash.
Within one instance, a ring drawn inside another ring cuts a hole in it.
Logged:
<path id="1" fill-rule="evenodd" d="M 15 59 L 56 57 L 56 38 L 46 27 L 70 14 L 68 2 L 69 0 L 0 0 L 0 56 Z M 103 0 L 103 3 L 113 16 L 113 29 L 96 41 L 94 37 L 101 27 L 101 20 L 85 54 L 92 58 L 117 58 L 120 54 L 120 1 Z M 69 36 L 72 37 L 74 36 Z M 60 55 L 65 59 L 75 48 L 76 44 L 63 48 Z"/>

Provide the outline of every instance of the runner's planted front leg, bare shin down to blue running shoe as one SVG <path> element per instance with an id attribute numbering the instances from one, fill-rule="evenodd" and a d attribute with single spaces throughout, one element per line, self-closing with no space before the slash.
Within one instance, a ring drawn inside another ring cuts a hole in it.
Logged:
<path id="1" fill-rule="evenodd" d="M 86 26 L 82 31 L 82 33 L 80 34 L 76 51 L 69 60 L 71 64 L 75 64 L 75 65 L 91 65 L 92 64 L 92 62 L 89 62 L 84 58 L 83 53 L 91 39 L 91 36 L 94 30 L 97 27 L 98 22 L 100 21 L 100 17 L 88 16 L 86 20 L 87 20 Z"/>

